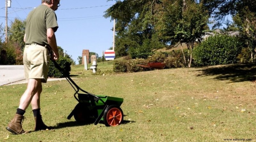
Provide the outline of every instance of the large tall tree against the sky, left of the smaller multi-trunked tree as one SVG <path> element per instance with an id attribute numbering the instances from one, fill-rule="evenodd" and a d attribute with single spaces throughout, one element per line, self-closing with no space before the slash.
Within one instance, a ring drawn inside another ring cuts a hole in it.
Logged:
<path id="1" fill-rule="evenodd" d="M 140 48 L 143 41 L 152 39 L 153 11 L 155 5 L 159 3 L 161 3 L 160 0 L 117 1 L 105 12 L 105 18 L 116 19 L 116 57 L 127 56 L 130 48 Z M 151 43 L 156 44 L 153 42 Z"/>

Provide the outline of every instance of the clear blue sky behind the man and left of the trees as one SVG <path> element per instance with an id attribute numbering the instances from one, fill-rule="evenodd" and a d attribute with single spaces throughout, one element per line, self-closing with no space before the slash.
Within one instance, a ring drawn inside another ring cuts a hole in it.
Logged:
<path id="1" fill-rule="evenodd" d="M 12 0 L 11 8 L 8 8 L 8 26 L 14 18 L 25 20 L 32 8 L 40 4 L 41 0 Z M 113 4 L 115 1 L 60 0 L 60 7 L 56 11 L 59 25 L 55 33 L 57 45 L 67 51 L 76 64 L 84 49 L 102 56 L 102 51 L 113 46 L 111 29 L 114 23 L 110 18 L 103 17 Z M 0 0 L 0 23 L 5 27 L 5 0 Z"/>

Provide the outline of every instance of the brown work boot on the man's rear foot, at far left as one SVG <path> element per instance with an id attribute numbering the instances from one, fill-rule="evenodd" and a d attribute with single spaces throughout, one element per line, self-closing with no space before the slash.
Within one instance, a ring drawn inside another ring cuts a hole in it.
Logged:
<path id="1" fill-rule="evenodd" d="M 22 128 L 22 121 L 24 116 L 20 114 L 15 114 L 12 121 L 7 125 L 6 129 L 14 134 L 24 134 L 26 133 Z"/>

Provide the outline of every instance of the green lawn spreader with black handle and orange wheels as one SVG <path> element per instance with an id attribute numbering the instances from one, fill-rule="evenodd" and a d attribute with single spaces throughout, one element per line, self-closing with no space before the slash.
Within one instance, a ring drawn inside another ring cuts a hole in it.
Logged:
<path id="1" fill-rule="evenodd" d="M 74 97 L 78 101 L 78 104 L 68 115 L 68 119 L 74 115 L 77 122 L 94 122 L 95 125 L 102 120 L 106 126 L 117 126 L 123 122 L 124 114 L 120 108 L 124 101 L 123 98 L 94 95 L 84 91 L 70 78 L 67 73 L 65 73 L 56 61 L 52 60 L 52 62 L 55 67 L 62 72 L 64 77 L 75 90 Z"/>

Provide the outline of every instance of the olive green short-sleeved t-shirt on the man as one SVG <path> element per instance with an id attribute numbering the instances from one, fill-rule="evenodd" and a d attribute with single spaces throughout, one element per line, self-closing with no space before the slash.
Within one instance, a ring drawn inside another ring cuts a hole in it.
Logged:
<path id="1" fill-rule="evenodd" d="M 26 22 L 25 43 L 49 46 L 47 42 L 47 29 L 53 28 L 54 32 L 58 29 L 55 12 L 46 5 L 39 5 L 28 14 Z"/>

